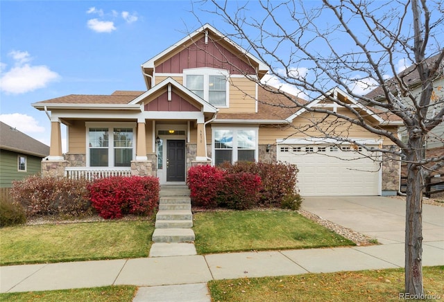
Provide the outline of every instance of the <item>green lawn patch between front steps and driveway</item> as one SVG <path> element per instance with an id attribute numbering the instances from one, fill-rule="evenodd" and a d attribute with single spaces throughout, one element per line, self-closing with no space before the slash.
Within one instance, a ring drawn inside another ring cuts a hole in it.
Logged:
<path id="1" fill-rule="evenodd" d="M 194 213 L 198 254 L 355 245 L 294 211 Z"/>

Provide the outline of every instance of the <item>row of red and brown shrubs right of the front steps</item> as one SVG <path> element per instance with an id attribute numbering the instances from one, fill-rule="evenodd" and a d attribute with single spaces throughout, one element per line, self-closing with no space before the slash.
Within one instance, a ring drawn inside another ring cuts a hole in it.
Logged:
<path id="1" fill-rule="evenodd" d="M 298 168 L 289 163 L 238 161 L 221 166 L 196 166 L 187 183 L 194 206 L 246 209 L 255 206 L 298 210 Z"/>

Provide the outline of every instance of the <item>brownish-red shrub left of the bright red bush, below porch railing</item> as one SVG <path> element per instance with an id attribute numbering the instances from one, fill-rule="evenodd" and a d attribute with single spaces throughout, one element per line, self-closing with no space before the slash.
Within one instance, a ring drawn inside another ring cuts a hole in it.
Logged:
<path id="1" fill-rule="evenodd" d="M 14 203 L 23 206 L 27 217 L 62 215 L 78 217 L 92 213 L 86 179 L 31 175 L 12 181 Z"/>

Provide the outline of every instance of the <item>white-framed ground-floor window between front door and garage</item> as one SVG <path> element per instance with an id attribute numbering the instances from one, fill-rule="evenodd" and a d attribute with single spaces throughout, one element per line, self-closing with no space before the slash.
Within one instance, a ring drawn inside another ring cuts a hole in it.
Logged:
<path id="1" fill-rule="evenodd" d="M 257 161 L 257 127 L 213 127 L 213 162 Z"/>

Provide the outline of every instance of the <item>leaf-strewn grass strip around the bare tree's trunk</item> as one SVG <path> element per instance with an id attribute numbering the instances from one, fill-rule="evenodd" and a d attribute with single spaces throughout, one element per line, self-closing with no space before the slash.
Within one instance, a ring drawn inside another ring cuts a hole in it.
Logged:
<path id="1" fill-rule="evenodd" d="M 444 299 L 444 266 L 424 267 L 423 274 L 425 294 Z M 404 270 L 241 278 L 210 281 L 208 287 L 212 301 L 400 301 Z"/>

